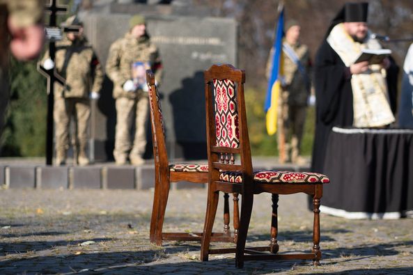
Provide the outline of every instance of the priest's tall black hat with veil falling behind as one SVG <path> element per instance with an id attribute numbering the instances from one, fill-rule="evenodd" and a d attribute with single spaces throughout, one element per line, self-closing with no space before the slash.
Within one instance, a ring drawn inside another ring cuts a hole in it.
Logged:
<path id="1" fill-rule="evenodd" d="M 334 17 L 332 24 L 330 24 L 326 36 L 336 26 L 342 22 L 367 22 L 368 3 L 345 3 L 343 8 Z"/>

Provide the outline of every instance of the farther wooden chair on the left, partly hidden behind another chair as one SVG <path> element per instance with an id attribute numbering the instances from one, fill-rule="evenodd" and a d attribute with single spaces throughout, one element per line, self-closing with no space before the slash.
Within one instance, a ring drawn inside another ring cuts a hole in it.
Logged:
<path id="1" fill-rule="evenodd" d="M 164 233 L 162 230 L 171 182 L 208 182 L 208 164 L 169 164 L 159 94 L 155 85 L 155 76 L 150 70 L 146 71 L 146 81 L 150 100 L 150 121 L 155 159 L 155 194 L 150 219 L 150 242 L 158 246 L 162 245 L 162 240 L 201 242 L 202 233 Z M 224 194 L 224 231 L 222 233 L 212 233 L 212 241 L 235 242 L 239 225 L 239 212 L 237 194 L 233 194 L 233 196 L 234 232 L 231 235 L 229 227 L 229 196 Z"/>

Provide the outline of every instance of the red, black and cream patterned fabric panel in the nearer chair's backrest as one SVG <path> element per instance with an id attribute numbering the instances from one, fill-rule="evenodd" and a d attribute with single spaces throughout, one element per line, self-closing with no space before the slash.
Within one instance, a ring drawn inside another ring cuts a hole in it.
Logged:
<path id="1" fill-rule="evenodd" d="M 214 79 L 214 96 L 217 146 L 238 148 L 240 132 L 234 82 Z"/>

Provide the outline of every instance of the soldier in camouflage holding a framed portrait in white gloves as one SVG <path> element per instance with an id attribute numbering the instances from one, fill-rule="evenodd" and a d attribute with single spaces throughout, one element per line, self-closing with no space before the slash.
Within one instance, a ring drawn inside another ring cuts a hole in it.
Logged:
<path id="1" fill-rule="evenodd" d="M 141 68 L 143 73 L 144 69 L 151 68 L 159 84 L 162 73 L 159 52 L 150 42 L 145 19 L 140 15 L 130 19 L 130 31 L 111 45 L 106 63 L 107 75 L 114 82 L 117 113 L 114 157 L 118 165 L 126 164 L 128 157 L 134 165 L 144 162 L 142 155 L 146 148 L 148 86 L 144 81 L 143 85 L 137 81 L 137 68 Z M 130 141 L 132 123 L 136 129 L 133 146 Z"/>

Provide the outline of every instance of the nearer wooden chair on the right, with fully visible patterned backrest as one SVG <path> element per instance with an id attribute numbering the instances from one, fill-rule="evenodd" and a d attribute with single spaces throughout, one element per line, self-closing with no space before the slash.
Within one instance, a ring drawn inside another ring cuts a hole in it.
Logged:
<path id="1" fill-rule="evenodd" d="M 318 173 L 253 171 L 247 117 L 244 102 L 245 74 L 232 65 L 212 65 L 204 72 L 207 115 L 208 209 L 201 243 L 201 260 L 212 253 L 234 253 L 235 266 L 243 267 L 244 260 L 308 259 L 318 265 L 320 251 L 320 198 L 322 184 L 329 182 Z M 210 237 L 215 220 L 219 191 L 242 196 L 240 228 L 236 248 L 210 249 Z M 254 194 L 272 194 L 270 244 L 245 249 Z M 313 247 L 311 253 L 277 254 L 277 203 L 279 194 L 303 192 L 313 196 Z"/>

